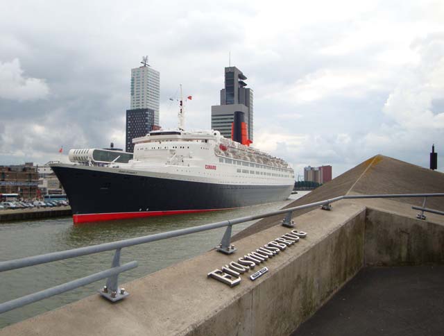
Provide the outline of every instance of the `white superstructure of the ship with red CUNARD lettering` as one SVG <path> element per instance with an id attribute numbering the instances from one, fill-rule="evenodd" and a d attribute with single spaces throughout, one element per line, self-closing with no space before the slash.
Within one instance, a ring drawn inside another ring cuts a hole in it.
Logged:
<path id="1" fill-rule="evenodd" d="M 219 131 L 153 131 L 133 142 L 133 160 L 114 167 L 226 185 L 294 184 L 287 162 L 226 139 Z"/>

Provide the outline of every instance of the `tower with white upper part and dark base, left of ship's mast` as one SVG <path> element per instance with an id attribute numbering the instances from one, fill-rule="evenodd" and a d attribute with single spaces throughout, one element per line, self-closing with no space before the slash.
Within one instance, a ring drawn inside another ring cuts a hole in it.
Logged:
<path id="1" fill-rule="evenodd" d="M 126 110 L 126 151 L 133 152 L 135 137 L 143 137 L 159 125 L 160 74 L 148 65 L 131 69 L 131 108 Z"/>

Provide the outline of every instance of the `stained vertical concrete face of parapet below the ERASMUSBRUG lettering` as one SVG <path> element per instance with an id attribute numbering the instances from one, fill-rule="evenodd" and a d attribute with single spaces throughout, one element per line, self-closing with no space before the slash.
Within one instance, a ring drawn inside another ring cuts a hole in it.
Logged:
<path id="1" fill-rule="evenodd" d="M 289 335 L 361 269 L 364 222 L 357 213 L 186 335 Z"/>

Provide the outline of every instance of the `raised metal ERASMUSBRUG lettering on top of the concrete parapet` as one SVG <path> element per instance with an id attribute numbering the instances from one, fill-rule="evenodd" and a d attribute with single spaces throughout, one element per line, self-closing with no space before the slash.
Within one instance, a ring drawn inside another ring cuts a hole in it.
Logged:
<path id="1" fill-rule="evenodd" d="M 300 238 L 305 237 L 307 237 L 307 233 L 291 230 L 289 233 L 285 233 L 264 246 L 259 247 L 256 251 L 251 251 L 247 255 L 237 259 L 237 261 L 225 264 L 222 269 L 214 269 L 214 271 L 208 274 L 208 277 L 221 281 L 221 283 L 225 283 L 225 285 L 230 287 L 239 285 L 239 283 L 241 283 L 241 274 L 250 271 L 250 269 L 254 269 L 255 266 L 265 262 L 268 258 L 273 258 L 275 255 L 278 255 L 280 251 L 284 251 L 287 247 L 299 242 Z M 255 280 L 266 271 L 268 271 L 268 268 L 264 267 L 250 276 L 250 279 Z"/>

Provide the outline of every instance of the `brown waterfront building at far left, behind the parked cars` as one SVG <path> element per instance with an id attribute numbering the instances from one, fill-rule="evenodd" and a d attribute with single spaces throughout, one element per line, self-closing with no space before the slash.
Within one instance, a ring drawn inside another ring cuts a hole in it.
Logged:
<path id="1" fill-rule="evenodd" d="M 22 199 L 39 196 L 37 166 L 33 162 L 24 165 L 0 166 L 0 194 L 19 194 Z"/>

